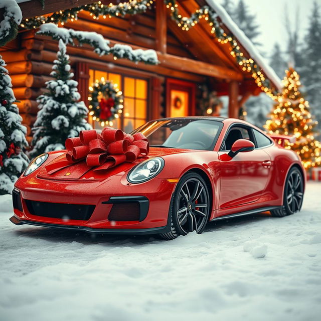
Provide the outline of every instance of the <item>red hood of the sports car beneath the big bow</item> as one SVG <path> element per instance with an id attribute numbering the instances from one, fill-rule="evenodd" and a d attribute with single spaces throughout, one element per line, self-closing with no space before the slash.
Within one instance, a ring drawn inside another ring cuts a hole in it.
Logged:
<path id="1" fill-rule="evenodd" d="M 140 157 L 132 163 L 122 163 L 118 166 L 110 168 L 103 173 L 94 171 L 89 168 L 85 161 L 70 164 L 66 159 L 66 152 L 54 158 L 51 162 L 44 165 L 37 174 L 38 178 L 49 180 L 75 181 L 75 180 L 104 180 L 113 175 L 123 175 L 137 164 L 145 161 L 145 159 L 166 156 L 178 153 L 191 152 L 191 149 L 178 148 L 162 148 L 150 147 L 148 156 Z"/>

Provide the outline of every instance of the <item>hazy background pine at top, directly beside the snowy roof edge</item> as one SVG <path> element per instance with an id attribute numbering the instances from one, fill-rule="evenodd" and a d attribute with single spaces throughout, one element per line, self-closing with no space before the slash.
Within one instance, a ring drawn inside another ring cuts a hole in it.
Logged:
<path id="1" fill-rule="evenodd" d="M 233 20 L 254 45 L 260 45 L 259 42 L 255 41 L 256 37 L 260 34 L 258 31 L 258 24 L 256 23 L 256 17 L 255 15 L 250 14 L 250 10 L 243 0 L 239 0 L 239 3 L 234 10 Z"/>

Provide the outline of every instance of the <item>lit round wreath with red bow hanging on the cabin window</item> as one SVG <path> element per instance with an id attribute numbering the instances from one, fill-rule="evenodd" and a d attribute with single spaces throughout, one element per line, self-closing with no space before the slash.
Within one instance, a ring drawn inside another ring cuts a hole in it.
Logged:
<path id="1" fill-rule="evenodd" d="M 112 126 L 112 121 L 122 112 L 124 101 L 117 84 L 101 79 L 90 86 L 89 91 L 89 115 L 93 120 L 100 122 L 101 126 Z"/>

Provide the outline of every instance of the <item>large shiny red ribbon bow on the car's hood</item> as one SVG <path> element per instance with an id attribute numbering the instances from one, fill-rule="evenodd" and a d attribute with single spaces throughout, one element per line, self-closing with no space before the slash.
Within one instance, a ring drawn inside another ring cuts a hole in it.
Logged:
<path id="1" fill-rule="evenodd" d="M 96 130 L 82 130 L 79 137 L 66 140 L 66 158 L 70 163 L 86 158 L 87 166 L 94 171 L 107 170 L 124 162 L 134 162 L 149 152 L 147 138 L 140 132 L 126 134 L 120 129 L 105 127 L 101 134 Z"/>

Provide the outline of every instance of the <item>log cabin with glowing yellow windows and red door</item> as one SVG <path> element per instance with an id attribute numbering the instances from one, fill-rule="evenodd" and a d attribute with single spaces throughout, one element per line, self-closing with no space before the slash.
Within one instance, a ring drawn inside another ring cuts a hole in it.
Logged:
<path id="1" fill-rule="evenodd" d="M 88 0 L 46 0 L 43 9 L 39 0 L 20 2 L 24 18 L 91 3 Z M 251 73 L 239 65 L 231 54 L 229 44 L 218 42 L 204 19 L 190 30 L 182 30 L 173 21 L 163 0 L 150 3 L 150 9 L 143 14 L 106 19 L 101 17 L 98 20 L 88 12 L 81 11 L 77 20 L 64 24 L 65 28 L 95 31 L 110 40 L 111 44 L 128 44 L 133 49 L 153 49 L 160 62 L 155 66 L 135 64 L 125 59 L 114 60 L 112 56 L 99 57 L 89 46 L 68 46 L 67 53 L 75 80 L 78 81 L 81 99 L 89 105 L 88 87 L 96 79 L 103 77 L 116 83 L 124 96 L 124 108 L 113 126 L 130 132 L 155 118 L 204 114 L 200 101 L 204 99 L 202 88 L 207 86 L 217 96 L 228 96 L 228 116 L 238 118 L 240 107 L 251 95 L 261 93 L 262 88 Z M 201 6 L 213 5 L 213 1 L 178 0 L 177 4 L 180 13 L 189 17 Z M 244 56 L 256 61 L 261 72 L 269 79 L 270 87 L 279 90 L 280 80 L 273 70 L 224 9 L 216 9 L 225 32 L 237 39 Z M 51 79 L 50 72 L 58 50 L 57 41 L 37 35 L 36 32 L 37 29 L 21 29 L 15 40 L 0 48 L 12 77 L 29 141 L 38 112 L 36 99 L 45 92 L 45 82 Z M 177 101 L 180 103 L 177 104 Z M 92 117 L 89 116 L 88 121 L 94 128 L 100 128 L 100 123 Z"/>

